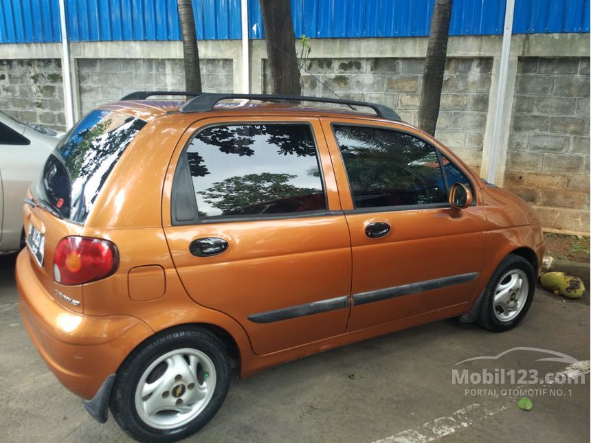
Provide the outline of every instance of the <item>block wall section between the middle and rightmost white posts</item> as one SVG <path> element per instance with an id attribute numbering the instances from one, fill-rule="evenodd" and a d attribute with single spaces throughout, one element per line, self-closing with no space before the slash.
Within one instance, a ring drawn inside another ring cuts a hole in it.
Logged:
<path id="1" fill-rule="evenodd" d="M 307 60 L 302 93 L 386 104 L 416 124 L 423 58 L 317 58 Z M 480 170 L 493 58 L 449 58 L 445 65 L 436 137 Z M 263 87 L 269 92 L 265 63 Z"/>

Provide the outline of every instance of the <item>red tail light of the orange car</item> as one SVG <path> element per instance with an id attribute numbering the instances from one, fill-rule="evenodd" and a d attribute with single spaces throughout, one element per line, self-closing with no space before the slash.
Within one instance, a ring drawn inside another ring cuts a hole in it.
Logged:
<path id="1" fill-rule="evenodd" d="M 109 240 L 66 237 L 54 254 L 54 280 L 60 284 L 83 284 L 109 277 L 119 265 L 117 247 Z"/>

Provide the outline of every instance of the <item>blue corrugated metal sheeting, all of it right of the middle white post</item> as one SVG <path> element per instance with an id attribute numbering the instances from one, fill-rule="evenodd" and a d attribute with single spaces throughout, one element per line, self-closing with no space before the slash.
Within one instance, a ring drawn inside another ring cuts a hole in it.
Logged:
<path id="1" fill-rule="evenodd" d="M 589 32 L 590 0 L 515 0 L 515 34 Z M 434 0 L 291 0 L 295 36 L 428 36 Z M 502 34 L 505 3 L 454 0 L 449 34 Z M 258 1 L 249 3 L 250 38 L 263 38 Z"/>

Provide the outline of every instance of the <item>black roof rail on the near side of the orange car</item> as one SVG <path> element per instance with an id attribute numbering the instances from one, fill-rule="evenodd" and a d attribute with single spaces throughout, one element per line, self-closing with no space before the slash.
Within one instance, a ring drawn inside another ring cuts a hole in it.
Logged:
<path id="1" fill-rule="evenodd" d="M 181 113 L 205 112 L 212 111 L 217 102 L 231 98 L 243 98 L 247 100 L 260 100 L 267 102 L 289 101 L 289 102 L 321 102 L 321 103 L 335 103 L 346 104 L 347 106 L 364 106 L 375 111 L 376 115 L 388 120 L 396 120 L 401 122 L 400 116 L 393 109 L 384 106 L 383 104 L 370 102 L 355 102 L 353 100 L 342 100 L 323 97 L 307 97 L 305 95 L 275 95 L 275 94 L 219 94 L 219 93 L 202 93 L 194 97 L 183 106 L 181 106 Z"/>

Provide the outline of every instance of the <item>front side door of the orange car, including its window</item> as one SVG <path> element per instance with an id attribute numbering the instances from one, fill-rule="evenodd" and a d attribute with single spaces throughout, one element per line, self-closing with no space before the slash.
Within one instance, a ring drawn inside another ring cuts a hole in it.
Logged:
<path id="1" fill-rule="evenodd" d="M 347 330 L 465 312 L 482 269 L 484 210 L 454 217 L 442 165 L 454 181 L 469 184 L 467 174 L 408 127 L 321 120 L 353 250 Z"/>

